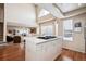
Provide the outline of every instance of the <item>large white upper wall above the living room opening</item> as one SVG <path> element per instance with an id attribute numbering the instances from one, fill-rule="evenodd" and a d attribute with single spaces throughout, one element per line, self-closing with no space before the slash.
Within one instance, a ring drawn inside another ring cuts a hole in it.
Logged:
<path id="1" fill-rule="evenodd" d="M 29 3 L 5 3 L 4 18 L 9 25 L 36 26 L 35 5 Z"/>

